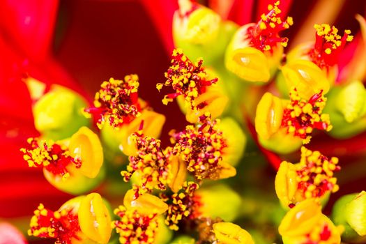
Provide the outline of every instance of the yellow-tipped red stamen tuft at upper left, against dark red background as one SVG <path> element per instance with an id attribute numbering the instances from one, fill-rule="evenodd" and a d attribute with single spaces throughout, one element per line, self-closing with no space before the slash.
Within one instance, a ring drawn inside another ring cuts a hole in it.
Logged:
<path id="1" fill-rule="evenodd" d="M 117 128 L 139 116 L 142 108 L 137 93 L 138 79 L 137 75 L 126 75 L 124 80 L 110 78 L 102 83 L 94 98 L 94 107 L 85 109 L 90 114 L 100 116 L 99 128 L 105 121 Z"/>

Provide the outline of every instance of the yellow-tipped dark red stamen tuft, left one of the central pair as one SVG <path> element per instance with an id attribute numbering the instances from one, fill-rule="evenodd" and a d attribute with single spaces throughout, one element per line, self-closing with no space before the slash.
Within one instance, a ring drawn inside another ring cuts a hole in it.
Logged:
<path id="1" fill-rule="evenodd" d="M 169 183 L 169 169 L 171 165 L 171 148 L 162 150 L 160 140 L 152 137 L 144 137 L 139 133 L 131 135 L 137 144 L 137 155 L 130 156 L 127 171 L 121 171 L 124 181 L 130 181 L 132 174 L 137 171 L 142 183 L 135 187 L 135 197 L 138 198 L 153 188 L 166 190 Z"/>

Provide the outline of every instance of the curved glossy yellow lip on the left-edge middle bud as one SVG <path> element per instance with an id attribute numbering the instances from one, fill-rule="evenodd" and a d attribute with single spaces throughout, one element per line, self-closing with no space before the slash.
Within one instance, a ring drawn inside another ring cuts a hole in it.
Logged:
<path id="1" fill-rule="evenodd" d="M 99 137 L 89 128 L 80 128 L 70 139 L 70 155 L 82 160 L 80 171 L 95 178 L 103 164 L 103 149 Z"/>

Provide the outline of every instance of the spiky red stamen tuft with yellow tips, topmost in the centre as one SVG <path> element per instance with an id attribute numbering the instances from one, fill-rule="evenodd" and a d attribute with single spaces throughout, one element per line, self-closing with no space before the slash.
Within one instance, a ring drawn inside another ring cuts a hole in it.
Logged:
<path id="1" fill-rule="evenodd" d="M 162 86 L 171 86 L 175 93 L 170 93 L 162 99 L 165 105 L 172 102 L 177 96 L 183 95 L 185 101 L 188 102 L 192 110 L 203 105 L 196 105 L 194 100 L 200 94 L 206 91 L 207 86 L 218 82 L 218 78 L 208 79 L 205 69 L 202 67 L 203 60 L 199 59 L 196 63 L 192 63 L 181 49 L 174 49 L 171 56 L 171 66 L 165 78 L 165 83 L 158 83 L 156 88 L 160 91 Z"/>

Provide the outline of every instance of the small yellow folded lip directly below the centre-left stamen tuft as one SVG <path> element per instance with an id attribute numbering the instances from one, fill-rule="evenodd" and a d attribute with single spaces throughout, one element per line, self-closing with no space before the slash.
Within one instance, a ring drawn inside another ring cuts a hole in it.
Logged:
<path id="1" fill-rule="evenodd" d="M 162 199 L 148 193 L 140 195 L 139 198 L 135 199 L 134 190 L 128 190 L 125 193 L 123 205 L 127 209 L 136 209 L 139 213 L 146 215 L 152 213 L 162 214 L 168 209 L 167 204 Z"/>

